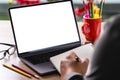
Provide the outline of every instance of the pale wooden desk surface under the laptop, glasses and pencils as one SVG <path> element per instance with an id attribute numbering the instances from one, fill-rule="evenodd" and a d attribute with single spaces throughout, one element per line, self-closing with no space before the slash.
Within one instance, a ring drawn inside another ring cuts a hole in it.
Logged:
<path id="1" fill-rule="evenodd" d="M 78 23 L 78 25 L 81 26 L 82 23 Z M 14 44 L 13 33 L 12 33 L 10 21 L 0 21 L 0 42 Z M 0 51 L 1 51 L 1 49 L 0 49 Z M 3 63 L 9 64 L 9 65 L 16 64 L 28 71 L 33 72 L 33 70 L 31 70 L 29 67 L 27 67 L 25 64 L 23 64 L 19 60 L 19 58 L 17 57 L 17 54 L 15 53 L 10 58 L 6 56 L 5 59 L 0 60 L 0 80 L 37 80 L 35 78 L 29 79 L 29 78 L 24 77 L 14 71 L 11 71 L 11 70 L 3 67 L 2 66 Z M 33 72 L 33 73 L 35 73 L 35 72 Z M 42 77 L 42 80 L 60 80 L 59 74 L 51 74 L 51 75 L 47 75 L 44 77 L 43 76 L 40 76 L 40 77 Z"/>

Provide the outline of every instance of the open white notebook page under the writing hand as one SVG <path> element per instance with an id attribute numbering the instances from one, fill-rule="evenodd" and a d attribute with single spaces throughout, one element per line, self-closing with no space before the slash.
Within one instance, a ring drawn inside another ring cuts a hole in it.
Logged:
<path id="1" fill-rule="evenodd" d="M 57 69 L 59 73 L 60 73 L 61 60 L 64 60 L 65 57 L 69 55 L 71 51 L 74 51 L 76 55 L 80 58 L 88 58 L 89 60 L 91 60 L 91 56 L 93 53 L 93 45 L 89 43 L 89 44 L 82 45 L 80 47 L 74 48 L 72 50 L 69 50 L 59 55 L 51 57 L 50 61 L 52 62 L 52 64 L 54 65 L 54 67 Z"/>

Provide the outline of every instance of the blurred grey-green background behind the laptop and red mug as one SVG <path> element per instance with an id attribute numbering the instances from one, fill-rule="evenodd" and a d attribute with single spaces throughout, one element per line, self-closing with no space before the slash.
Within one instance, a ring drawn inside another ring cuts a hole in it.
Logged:
<path id="1" fill-rule="evenodd" d="M 50 2 L 52 0 L 40 0 L 40 3 Z M 83 7 L 83 0 L 73 0 L 74 8 Z M 19 6 L 16 0 L 0 0 L 0 20 L 9 20 L 8 8 Z M 105 0 L 103 8 L 103 20 L 112 15 L 120 14 L 120 0 Z M 77 21 L 81 21 L 82 16 L 76 16 Z"/>

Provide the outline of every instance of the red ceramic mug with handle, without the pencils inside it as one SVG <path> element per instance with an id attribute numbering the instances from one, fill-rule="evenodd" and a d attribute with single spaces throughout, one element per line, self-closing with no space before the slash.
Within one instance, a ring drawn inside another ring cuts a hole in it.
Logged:
<path id="1" fill-rule="evenodd" d="M 102 18 L 83 18 L 82 32 L 85 35 L 85 39 L 91 43 L 94 43 L 101 32 Z"/>

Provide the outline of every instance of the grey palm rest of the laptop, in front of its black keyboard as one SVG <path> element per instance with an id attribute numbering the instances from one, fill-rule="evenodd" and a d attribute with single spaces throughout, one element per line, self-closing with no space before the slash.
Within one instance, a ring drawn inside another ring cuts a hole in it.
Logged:
<path id="1" fill-rule="evenodd" d="M 45 76 L 51 73 L 58 73 L 51 62 L 32 64 L 25 59 L 21 59 L 21 61 L 41 76 Z"/>

